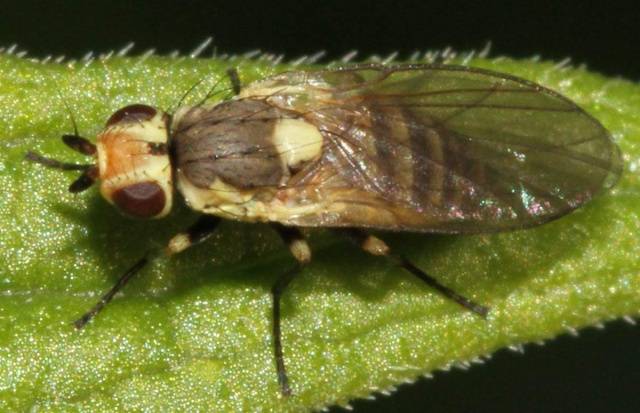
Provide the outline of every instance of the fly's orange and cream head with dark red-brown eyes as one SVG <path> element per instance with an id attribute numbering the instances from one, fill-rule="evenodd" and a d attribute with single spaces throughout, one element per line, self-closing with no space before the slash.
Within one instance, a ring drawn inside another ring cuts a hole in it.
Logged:
<path id="1" fill-rule="evenodd" d="M 150 106 L 115 112 L 97 137 L 100 192 L 127 215 L 160 218 L 173 198 L 168 116 Z"/>

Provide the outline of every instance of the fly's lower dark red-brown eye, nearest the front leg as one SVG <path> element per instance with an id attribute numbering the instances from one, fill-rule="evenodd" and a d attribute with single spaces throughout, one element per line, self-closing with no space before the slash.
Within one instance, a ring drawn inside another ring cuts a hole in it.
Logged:
<path id="1" fill-rule="evenodd" d="M 112 195 L 113 202 L 126 214 L 152 218 L 164 209 L 166 197 L 156 182 L 140 182 L 125 186 Z"/>

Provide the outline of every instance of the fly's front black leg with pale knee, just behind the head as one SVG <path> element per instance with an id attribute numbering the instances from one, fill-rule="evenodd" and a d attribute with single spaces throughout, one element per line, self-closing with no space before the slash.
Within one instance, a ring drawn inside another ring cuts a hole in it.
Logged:
<path id="1" fill-rule="evenodd" d="M 199 242 L 204 241 L 209 237 L 215 230 L 216 226 L 220 222 L 219 218 L 203 215 L 189 227 L 185 232 L 181 232 L 171 238 L 169 244 L 164 249 L 166 255 L 171 256 L 186 250 L 187 248 L 195 245 Z M 96 303 L 96 305 L 91 308 L 91 310 L 87 311 L 82 317 L 77 319 L 73 324 L 77 329 L 83 328 L 93 317 L 95 317 L 109 302 L 113 299 L 113 296 L 118 293 L 127 283 L 136 275 L 145 265 L 152 261 L 154 258 L 157 258 L 159 251 L 150 251 L 145 254 L 144 257 L 140 258 L 138 262 L 136 262 L 131 268 L 129 268 L 115 285 L 107 291 L 101 298 L 100 301 Z"/>

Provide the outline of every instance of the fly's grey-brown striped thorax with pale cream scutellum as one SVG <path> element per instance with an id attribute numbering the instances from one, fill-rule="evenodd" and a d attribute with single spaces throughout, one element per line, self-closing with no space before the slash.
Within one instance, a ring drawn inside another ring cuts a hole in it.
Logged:
<path id="1" fill-rule="evenodd" d="M 185 199 L 232 219 L 268 220 L 277 190 L 322 148 L 312 124 L 262 99 L 182 109 L 172 129 Z"/>

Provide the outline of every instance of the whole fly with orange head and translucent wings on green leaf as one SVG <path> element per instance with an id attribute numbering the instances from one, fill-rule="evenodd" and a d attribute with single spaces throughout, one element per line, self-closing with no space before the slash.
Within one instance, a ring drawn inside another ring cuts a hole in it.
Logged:
<path id="1" fill-rule="evenodd" d="M 204 241 L 221 219 L 267 222 L 297 265 L 272 287 L 280 391 L 291 393 L 280 300 L 311 260 L 300 227 L 329 227 L 388 257 L 465 309 L 488 308 L 442 285 L 369 230 L 472 234 L 557 219 L 620 177 L 609 132 L 567 98 L 507 74 L 449 65 L 366 65 L 293 71 L 217 104 L 168 114 L 135 104 L 115 112 L 93 144 L 63 136 L 94 162 L 29 152 L 44 166 L 79 170 L 69 187 L 99 181 L 103 197 L 136 218 L 162 218 L 175 188 L 202 213 L 169 255 Z M 80 317 L 83 328 L 151 258 L 142 258 Z"/>

